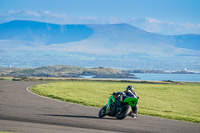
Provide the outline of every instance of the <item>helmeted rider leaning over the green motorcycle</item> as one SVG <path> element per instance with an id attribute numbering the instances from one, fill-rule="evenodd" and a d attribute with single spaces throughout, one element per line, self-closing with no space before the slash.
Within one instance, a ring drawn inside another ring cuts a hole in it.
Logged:
<path id="1" fill-rule="evenodd" d="M 118 96 L 116 101 L 121 104 L 121 102 L 123 101 L 123 99 L 127 98 L 127 97 L 134 97 L 134 98 L 138 98 L 137 93 L 134 91 L 134 87 L 129 85 L 127 86 L 126 90 L 124 92 L 117 92 L 117 93 L 113 93 L 113 95 Z M 107 109 L 106 109 L 106 113 L 109 113 L 110 111 L 110 100 L 108 100 L 108 104 L 107 104 Z M 138 114 L 138 104 L 135 107 L 132 107 L 132 112 L 130 113 L 130 116 L 133 118 L 136 118 Z"/>

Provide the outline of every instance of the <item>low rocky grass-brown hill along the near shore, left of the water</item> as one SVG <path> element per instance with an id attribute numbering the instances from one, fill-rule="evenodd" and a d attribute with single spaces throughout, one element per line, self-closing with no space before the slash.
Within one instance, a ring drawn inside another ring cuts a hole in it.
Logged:
<path id="1" fill-rule="evenodd" d="M 76 66 L 46 66 L 39 68 L 0 68 L 0 76 L 11 77 L 67 77 L 81 78 L 81 76 L 93 76 L 96 78 L 137 78 L 129 71 L 112 68 L 95 67 L 83 68 Z"/>

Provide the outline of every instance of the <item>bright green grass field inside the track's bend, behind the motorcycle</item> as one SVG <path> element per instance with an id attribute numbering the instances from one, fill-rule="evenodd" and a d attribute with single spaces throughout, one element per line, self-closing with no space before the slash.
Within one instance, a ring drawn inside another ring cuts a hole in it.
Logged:
<path id="1" fill-rule="evenodd" d="M 147 84 L 128 82 L 66 81 L 37 85 L 31 91 L 54 99 L 103 107 L 112 92 L 133 85 L 139 114 L 200 123 L 200 84 Z"/>

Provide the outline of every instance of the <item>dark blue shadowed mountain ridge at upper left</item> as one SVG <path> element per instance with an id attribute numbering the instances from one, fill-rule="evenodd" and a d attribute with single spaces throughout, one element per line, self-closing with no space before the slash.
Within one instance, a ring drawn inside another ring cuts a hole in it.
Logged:
<path id="1" fill-rule="evenodd" d="M 46 45 L 80 41 L 93 34 L 85 25 L 57 25 L 35 21 L 0 24 L 0 40 L 23 40 Z"/>

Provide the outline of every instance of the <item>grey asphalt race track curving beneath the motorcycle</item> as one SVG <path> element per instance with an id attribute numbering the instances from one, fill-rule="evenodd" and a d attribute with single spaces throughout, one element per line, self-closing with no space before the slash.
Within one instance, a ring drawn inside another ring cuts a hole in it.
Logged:
<path id="1" fill-rule="evenodd" d="M 42 82 L 0 81 L 0 131 L 23 133 L 200 133 L 200 124 L 139 115 L 98 118 L 98 108 L 34 95 L 27 87 Z M 98 94 L 97 94 L 98 95 Z"/>

